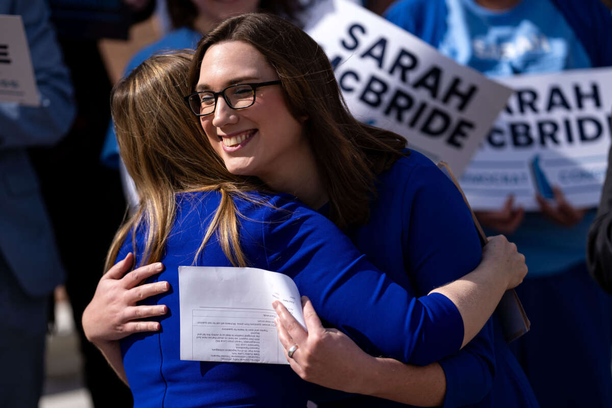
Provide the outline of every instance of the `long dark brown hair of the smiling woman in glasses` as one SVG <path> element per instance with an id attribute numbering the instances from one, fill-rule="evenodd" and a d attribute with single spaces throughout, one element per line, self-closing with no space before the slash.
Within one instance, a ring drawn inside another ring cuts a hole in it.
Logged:
<path id="1" fill-rule="evenodd" d="M 282 82 L 294 117 L 307 117 L 305 134 L 330 201 L 330 219 L 340 228 L 365 223 L 376 195 L 376 175 L 403 153 L 406 140 L 357 121 L 346 108 L 323 49 L 280 17 L 250 13 L 223 21 L 198 43 L 189 72 L 195 89 L 204 54 L 212 45 L 242 41 L 256 48 Z"/>

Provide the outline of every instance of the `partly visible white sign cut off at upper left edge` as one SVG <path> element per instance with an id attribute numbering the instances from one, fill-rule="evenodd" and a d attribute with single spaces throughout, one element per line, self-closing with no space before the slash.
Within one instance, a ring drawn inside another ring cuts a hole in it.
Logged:
<path id="1" fill-rule="evenodd" d="M 28 40 L 18 15 L 0 15 L 0 102 L 40 105 Z"/>

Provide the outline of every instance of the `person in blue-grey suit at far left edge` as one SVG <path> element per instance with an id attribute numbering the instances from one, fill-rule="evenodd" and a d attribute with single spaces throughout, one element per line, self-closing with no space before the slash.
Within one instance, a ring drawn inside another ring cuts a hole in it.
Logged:
<path id="1" fill-rule="evenodd" d="M 40 97 L 38 107 L 0 102 L 0 406 L 36 408 L 50 294 L 64 267 L 28 148 L 58 143 L 75 105 L 45 2 L 3 1 L 0 14 L 23 20 Z"/>

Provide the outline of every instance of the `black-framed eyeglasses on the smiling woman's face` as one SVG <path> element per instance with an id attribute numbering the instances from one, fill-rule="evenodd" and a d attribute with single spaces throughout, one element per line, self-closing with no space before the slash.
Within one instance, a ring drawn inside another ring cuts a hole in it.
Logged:
<path id="1" fill-rule="evenodd" d="M 255 89 L 280 84 L 280 80 L 259 82 L 251 84 L 231 85 L 221 92 L 201 91 L 194 92 L 184 97 L 185 102 L 195 116 L 206 116 L 214 113 L 217 108 L 217 98 L 223 95 L 223 99 L 232 109 L 244 109 L 255 103 Z"/>

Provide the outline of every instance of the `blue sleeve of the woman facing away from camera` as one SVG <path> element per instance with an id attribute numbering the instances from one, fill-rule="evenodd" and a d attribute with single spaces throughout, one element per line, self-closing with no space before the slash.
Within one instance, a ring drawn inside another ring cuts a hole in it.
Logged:
<path id="1" fill-rule="evenodd" d="M 326 322 L 373 355 L 427 364 L 457 352 L 463 321 L 441 294 L 414 297 L 375 269 L 327 218 L 277 202 L 262 223 L 268 268 L 291 276 Z"/>

